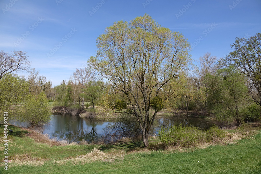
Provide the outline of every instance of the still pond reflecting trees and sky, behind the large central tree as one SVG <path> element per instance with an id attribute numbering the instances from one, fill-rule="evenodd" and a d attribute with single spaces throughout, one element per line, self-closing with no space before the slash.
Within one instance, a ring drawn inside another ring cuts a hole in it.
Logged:
<path id="1" fill-rule="evenodd" d="M 92 142 L 98 140 L 104 134 L 103 128 L 106 125 L 116 121 L 116 119 L 97 120 L 72 115 L 51 115 L 51 121 L 44 125 L 41 131 L 43 134 L 49 135 L 50 138 L 67 140 L 69 143 L 79 143 L 82 140 Z M 26 127 L 26 123 L 10 122 L 10 124 Z M 199 129 L 209 129 L 212 124 L 217 125 L 217 122 L 187 116 L 158 117 L 152 133 L 157 134 L 157 130 L 161 127 L 169 128 L 180 124 L 182 126 L 195 126 Z"/>

